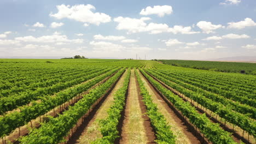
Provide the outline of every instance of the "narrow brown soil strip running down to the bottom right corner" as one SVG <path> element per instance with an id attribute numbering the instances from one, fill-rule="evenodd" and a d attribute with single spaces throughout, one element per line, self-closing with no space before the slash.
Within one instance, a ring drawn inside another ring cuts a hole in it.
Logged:
<path id="1" fill-rule="evenodd" d="M 149 74 L 150 75 L 150 74 Z M 152 75 L 150 75 L 152 76 Z M 172 87 L 167 86 L 164 82 L 156 79 L 156 77 L 152 76 L 156 81 L 160 82 L 162 86 L 166 87 L 167 89 L 170 89 L 174 94 L 178 95 L 179 97 L 181 97 L 184 101 L 188 101 L 192 106 L 194 106 L 196 108 L 196 110 L 199 113 L 206 113 L 206 116 L 211 120 L 211 122 L 213 123 L 219 123 L 220 127 L 223 128 L 225 131 L 228 131 L 229 133 L 232 133 L 232 138 L 240 143 L 240 140 L 245 142 L 245 143 L 253 143 L 255 142 L 254 138 L 252 136 L 249 136 L 249 139 L 246 137 L 246 135 L 244 134 L 243 136 L 243 131 L 239 128 L 238 131 L 236 131 L 235 129 L 233 129 L 233 127 L 231 126 L 231 123 L 228 122 L 224 122 L 223 123 L 223 119 L 221 121 L 220 118 L 217 118 L 218 116 L 216 115 L 216 113 L 213 113 L 211 110 L 206 109 L 206 107 L 203 107 L 202 105 L 196 103 L 196 101 L 185 97 L 184 94 L 178 92 L 176 89 L 173 89 Z M 215 117 L 216 116 L 216 117 Z M 237 127 L 238 129 L 238 127 Z M 251 139 L 251 140 L 250 140 Z"/>

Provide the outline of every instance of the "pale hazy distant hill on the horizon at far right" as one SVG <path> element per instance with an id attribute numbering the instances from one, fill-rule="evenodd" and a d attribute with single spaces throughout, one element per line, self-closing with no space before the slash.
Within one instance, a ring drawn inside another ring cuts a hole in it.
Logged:
<path id="1" fill-rule="evenodd" d="M 256 62 L 256 56 L 238 56 L 224 57 L 216 59 L 206 59 L 207 61 L 225 61 L 225 62 Z"/>

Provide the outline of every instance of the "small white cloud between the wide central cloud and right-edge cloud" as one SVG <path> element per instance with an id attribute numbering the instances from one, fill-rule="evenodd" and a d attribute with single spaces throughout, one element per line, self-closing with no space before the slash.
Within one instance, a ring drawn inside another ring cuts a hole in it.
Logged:
<path id="1" fill-rule="evenodd" d="M 202 29 L 204 33 L 213 33 L 213 30 L 218 28 L 224 28 L 222 25 L 213 25 L 212 22 L 200 21 L 196 24 L 197 27 Z"/>

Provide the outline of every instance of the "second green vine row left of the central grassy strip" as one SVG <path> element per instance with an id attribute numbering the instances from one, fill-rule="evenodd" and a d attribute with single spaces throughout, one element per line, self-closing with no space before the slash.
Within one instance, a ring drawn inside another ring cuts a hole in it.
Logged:
<path id="1" fill-rule="evenodd" d="M 89 94 L 84 95 L 74 106 L 63 112 L 59 117 L 52 118 L 48 123 L 42 123 L 40 128 L 33 129 L 28 136 L 22 137 L 21 143 L 59 143 L 69 130 L 77 123 L 78 119 L 85 115 L 95 101 L 107 93 L 115 81 L 118 80 L 125 69 L 110 77 L 102 85 L 92 89 Z"/>

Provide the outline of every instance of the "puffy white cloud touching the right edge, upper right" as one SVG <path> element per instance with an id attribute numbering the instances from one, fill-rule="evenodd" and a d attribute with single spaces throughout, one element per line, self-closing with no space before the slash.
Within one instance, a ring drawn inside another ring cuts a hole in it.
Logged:
<path id="1" fill-rule="evenodd" d="M 244 21 L 229 22 L 228 25 L 228 28 L 243 29 L 245 27 L 256 26 L 256 22 L 247 17 Z"/>

